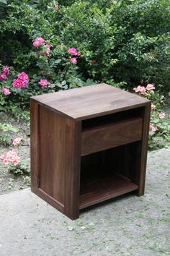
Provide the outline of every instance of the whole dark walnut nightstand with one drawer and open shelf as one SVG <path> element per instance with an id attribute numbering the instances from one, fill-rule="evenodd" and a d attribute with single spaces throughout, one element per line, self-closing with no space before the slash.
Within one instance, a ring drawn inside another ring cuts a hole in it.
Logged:
<path id="1" fill-rule="evenodd" d="M 71 219 L 144 194 L 151 102 L 110 85 L 31 98 L 32 192 Z"/>

